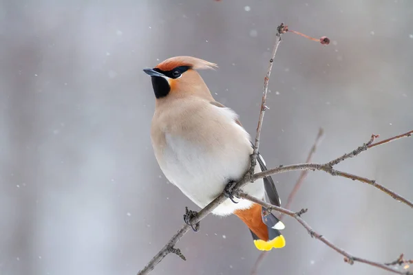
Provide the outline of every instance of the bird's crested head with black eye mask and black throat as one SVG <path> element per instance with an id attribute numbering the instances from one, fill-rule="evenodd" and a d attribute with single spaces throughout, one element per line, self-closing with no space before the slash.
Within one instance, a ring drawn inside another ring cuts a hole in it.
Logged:
<path id="1" fill-rule="evenodd" d="M 191 56 L 175 56 L 162 61 L 153 69 L 143 72 L 151 76 L 153 92 L 157 99 L 169 94 L 184 96 L 187 94 L 211 94 L 197 69 L 214 69 L 216 64 Z"/>

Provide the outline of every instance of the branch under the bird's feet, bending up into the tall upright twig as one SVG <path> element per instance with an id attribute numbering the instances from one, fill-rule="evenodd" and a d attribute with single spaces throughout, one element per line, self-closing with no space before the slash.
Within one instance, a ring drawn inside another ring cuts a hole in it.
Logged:
<path id="1" fill-rule="evenodd" d="M 255 135 L 255 144 L 254 144 L 253 154 L 251 155 L 251 168 L 244 175 L 244 177 L 240 181 L 238 181 L 237 184 L 235 184 L 235 186 L 233 187 L 234 190 L 242 188 L 242 186 L 244 186 L 248 182 L 251 182 L 253 179 L 254 169 L 255 169 L 255 166 L 257 165 L 257 152 L 258 152 L 258 148 L 260 147 L 260 134 L 261 134 L 261 129 L 262 129 L 262 120 L 264 119 L 264 112 L 267 109 L 265 104 L 266 104 L 266 96 L 268 93 L 268 82 L 271 76 L 271 69 L 273 69 L 273 62 L 274 62 L 275 54 L 277 54 L 278 46 L 279 46 L 279 43 L 281 43 L 281 36 L 283 33 L 284 33 L 284 23 L 281 23 L 281 25 L 279 25 L 277 28 L 277 34 L 276 34 L 277 41 L 275 42 L 275 45 L 273 48 L 273 56 L 270 59 L 270 65 L 268 65 L 266 77 L 264 78 L 264 92 L 262 95 L 260 118 L 258 120 L 257 133 Z M 204 209 L 198 212 L 198 215 L 194 217 L 193 219 L 191 219 L 189 223 L 190 224 L 198 223 L 199 221 L 204 219 L 204 217 L 207 217 L 209 213 L 211 213 L 217 206 L 219 206 L 226 199 L 227 198 L 222 193 L 219 197 L 211 201 L 211 203 L 209 203 Z M 138 275 L 148 274 L 149 272 L 151 272 L 153 268 L 155 268 L 156 265 L 158 265 L 158 263 L 160 263 L 160 261 L 162 261 L 162 259 L 164 259 L 165 256 L 167 256 L 167 254 L 169 253 L 178 254 L 178 256 L 184 259 L 185 258 L 184 255 L 180 252 L 180 250 L 177 253 L 176 252 L 177 250 L 176 248 L 174 248 L 174 246 L 176 245 L 176 243 L 178 243 L 178 241 L 180 241 L 180 239 L 182 239 L 182 236 L 184 236 L 184 234 L 187 234 L 190 228 L 191 228 L 191 225 L 187 225 L 187 224 L 183 225 L 182 228 L 178 230 L 178 232 L 176 232 L 176 234 L 172 236 L 169 242 L 158 252 L 158 254 L 153 256 L 151 261 L 149 261 L 149 263 L 147 263 L 147 265 L 142 270 L 140 270 L 140 272 L 138 272 Z"/>

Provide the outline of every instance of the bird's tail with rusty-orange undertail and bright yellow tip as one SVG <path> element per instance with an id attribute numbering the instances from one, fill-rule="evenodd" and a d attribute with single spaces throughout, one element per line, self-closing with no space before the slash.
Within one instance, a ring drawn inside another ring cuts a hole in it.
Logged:
<path id="1" fill-rule="evenodd" d="M 258 250 L 268 251 L 273 248 L 284 248 L 286 245 L 284 236 L 279 232 L 285 228 L 284 223 L 266 208 L 253 203 L 251 208 L 236 210 L 234 214 L 248 226 Z"/>

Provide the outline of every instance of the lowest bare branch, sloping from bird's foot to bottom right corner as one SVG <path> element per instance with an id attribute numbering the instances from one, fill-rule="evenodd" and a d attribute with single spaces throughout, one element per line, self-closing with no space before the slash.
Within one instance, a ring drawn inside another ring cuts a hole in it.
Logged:
<path id="1" fill-rule="evenodd" d="M 307 209 L 302 209 L 299 212 L 293 212 L 293 211 L 287 210 L 285 208 L 282 208 L 282 207 L 279 207 L 279 206 L 274 206 L 273 204 L 270 204 L 270 203 L 266 203 L 265 201 L 257 199 L 257 198 L 255 198 L 251 195 L 248 195 L 244 192 L 240 192 L 238 194 L 238 196 L 243 198 L 243 199 L 248 199 L 248 201 L 258 203 L 261 206 L 264 206 L 265 208 L 267 208 L 268 210 L 275 210 L 275 211 L 278 211 L 278 212 L 282 212 L 283 214 L 286 214 L 290 217 L 293 217 L 299 223 L 301 223 L 301 225 L 303 225 L 304 228 L 306 228 L 308 234 L 310 234 L 311 237 L 323 242 L 324 244 L 326 244 L 332 250 L 335 250 L 339 254 L 343 255 L 344 256 L 344 261 L 346 263 L 349 263 L 350 265 L 352 265 L 354 262 L 360 262 L 360 263 L 366 263 L 367 265 L 372 265 L 374 267 L 379 267 L 382 270 L 387 270 L 387 271 L 393 272 L 395 274 L 402 274 L 402 275 L 412 275 L 413 274 L 412 272 L 408 272 L 408 271 L 401 272 L 399 270 L 394 270 L 394 268 L 392 268 L 392 267 L 389 267 L 389 265 L 399 264 L 401 262 L 401 259 L 403 259 L 403 254 L 401 255 L 401 257 L 399 257 L 399 259 L 397 259 L 396 261 L 394 261 L 390 264 L 377 263 L 377 262 L 370 261 L 370 260 L 367 260 L 367 259 L 363 259 L 363 258 L 360 258 L 360 257 L 357 257 L 357 256 L 352 256 L 352 254 L 346 252 L 346 250 L 343 250 L 343 249 L 339 248 L 337 245 L 335 245 L 334 243 L 332 243 L 331 241 L 328 241 L 328 239 L 326 239 L 325 236 L 317 233 L 315 230 L 313 230 L 313 228 L 310 227 L 310 225 L 308 225 L 308 223 L 306 223 L 306 221 L 304 221 L 304 219 L 301 218 L 301 214 L 304 214 L 305 212 L 307 212 Z M 405 262 L 410 263 L 410 261 L 405 261 L 403 259 L 403 263 L 405 263 Z"/>

